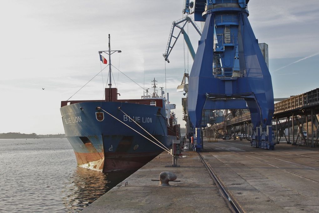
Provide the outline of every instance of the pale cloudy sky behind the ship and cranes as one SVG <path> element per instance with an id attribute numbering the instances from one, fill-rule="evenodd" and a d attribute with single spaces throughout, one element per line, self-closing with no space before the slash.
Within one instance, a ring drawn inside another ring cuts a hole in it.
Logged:
<path id="1" fill-rule="evenodd" d="M 251 0 L 248 4 L 256 38 L 269 45 L 275 98 L 298 95 L 319 84 L 319 2 L 306 2 Z M 111 49 L 122 51 L 112 55 L 112 65 L 145 89 L 155 77 L 157 86 L 169 92 L 178 122 L 184 126 L 184 96 L 176 87 L 184 71 L 190 72 L 192 59 L 182 37 L 169 56 L 169 64 L 162 56 L 172 21 L 182 18 L 183 0 L 1 3 L 0 133 L 64 133 L 61 101 L 105 67 L 98 51 L 108 49 L 108 34 Z M 188 30 L 196 50 L 199 35 L 191 26 Z M 107 69 L 70 100 L 102 99 Z M 141 87 L 115 68 L 113 76 L 121 99 L 143 95 Z"/>

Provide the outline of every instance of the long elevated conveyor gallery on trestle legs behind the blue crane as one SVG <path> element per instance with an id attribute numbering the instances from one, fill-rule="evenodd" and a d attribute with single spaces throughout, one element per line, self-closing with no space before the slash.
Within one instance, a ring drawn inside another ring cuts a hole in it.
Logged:
<path id="1" fill-rule="evenodd" d="M 273 123 L 276 122 L 275 135 L 280 140 L 281 136 L 285 136 L 287 133 L 284 133 L 284 130 L 290 126 L 288 129 L 288 139 L 286 138 L 287 143 L 290 143 L 290 136 L 293 137 L 293 144 L 296 144 L 296 141 L 299 137 L 303 140 L 304 145 L 308 145 L 309 140 L 311 140 L 311 145 L 313 145 L 313 140 L 318 144 L 319 136 L 319 88 L 311 90 L 309 92 L 303 93 L 301 95 L 296 95 L 291 98 L 288 98 L 284 101 L 275 103 L 275 111 L 273 116 Z M 310 125 L 308 123 L 310 122 Z M 224 121 L 219 124 L 212 125 L 206 128 L 206 134 L 215 135 L 216 131 L 220 132 L 226 127 L 226 132 L 234 134 L 237 132 L 249 134 L 250 128 L 244 128 L 242 131 L 242 125 L 249 126 L 251 123 L 250 113 L 243 114 L 241 116 L 232 118 L 230 120 Z M 287 125 L 288 123 L 288 125 Z M 304 124 L 307 124 L 304 127 Z M 237 130 L 236 127 L 240 126 Z M 295 126 L 298 127 L 298 134 Z M 310 126 L 310 128 L 309 128 Z M 233 128 L 233 131 L 231 131 Z M 227 131 L 229 130 L 229 131 Z M 300 134 L 300 132 L 306 131 L 307 135 Z M 310 135 L 309 135 L 310 133 Z M 296 136 L 296 140 L 295 140 Z M 309 139 L 309 136 L 314 136 Z"/>

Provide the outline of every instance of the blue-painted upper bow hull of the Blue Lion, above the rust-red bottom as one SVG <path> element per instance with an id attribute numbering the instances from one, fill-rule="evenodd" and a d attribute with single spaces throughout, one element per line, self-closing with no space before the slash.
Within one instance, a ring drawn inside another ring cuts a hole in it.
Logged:
<path id="1" fill-rule="evenodd" d="M 127 154 L 162 150 L 107 113 L 102 110 L 97 110 L 97 106 L 100 106 L 111 115 L 137 130 L 137 132 L 150 138 L 141 127 L 137 126 L 137 124 L 131 120 L 134 119 L 166 147 L 171 145 L 172 141 L 169 141 L 170 136 L 167 136 L 166 117 L 161 116 L 165 115 L 164 108 L 121 102 L 83 102 L 63 106 L 60 109 L 65 134 L 74 151 L 78 153 L 89 153 L 92 151 L 85 147 L 80 137 L 87 137 L 99 153 L 102 152 L 103 147 L 105 153 L 116 153 L 117 146 L 124 137 L 129 137 L 127 140 L 132 143 L 130 149 L 126 151 Z M 83 110 L 81 110 L 80 107 L 82 107 Z M 131 119 L 127 118 L 122 111 L 118 110 L 118 107 L 121 107 Z M 104 119 L 102 121 L 97 120 L 96 112 L 104 113 Z M 155 141 L 152 138 L 150 139 Z M 133 149 L 135 145 L 139 145 L 137 150 Z"/>

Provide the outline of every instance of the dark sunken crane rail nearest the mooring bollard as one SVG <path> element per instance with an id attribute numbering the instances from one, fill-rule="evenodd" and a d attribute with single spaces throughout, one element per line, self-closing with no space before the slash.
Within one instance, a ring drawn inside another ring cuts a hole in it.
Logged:
<path id="1" fill-rule="evenodd" d="M 199 158 L 204 163 L 209 175 L 213 179 L 213 181 L 216 183 L 217 187 L 219 188 L 221 194 L 223 195 L 227 205 L 229 206 L 230 210 L 234 213 L 244 213 L 245 211 L 241 208 L 239 203 L 234 199 L 234 197 L 229 193 L 227 188 L 224 186 L 224 184 L 221 182 L 217 174 L 213 171 L 209 163 L 204 159 L 204 157 L 201 155 L 201 153 L 198 153 Z"/>

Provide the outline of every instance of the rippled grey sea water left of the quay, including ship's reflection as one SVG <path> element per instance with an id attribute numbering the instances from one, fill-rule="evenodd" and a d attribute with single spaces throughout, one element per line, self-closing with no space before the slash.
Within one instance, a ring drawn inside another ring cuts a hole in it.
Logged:
<path id="1" fill-rule="evenodd" d="M 0 139 L 0 212 L 79 212 L 133 172 L 78 167 L 66 138 Z"/>

